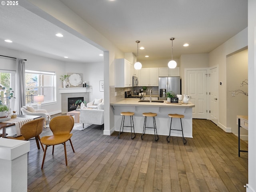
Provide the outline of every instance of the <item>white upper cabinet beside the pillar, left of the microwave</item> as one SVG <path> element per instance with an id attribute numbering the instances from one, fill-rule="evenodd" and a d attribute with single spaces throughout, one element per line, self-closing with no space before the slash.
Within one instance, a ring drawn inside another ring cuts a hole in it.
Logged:
<path id="1" fill-rule="evenodd" d="M 133 66 L 126 59 L 115 59 L 115 87 L 132 87 Z"/>

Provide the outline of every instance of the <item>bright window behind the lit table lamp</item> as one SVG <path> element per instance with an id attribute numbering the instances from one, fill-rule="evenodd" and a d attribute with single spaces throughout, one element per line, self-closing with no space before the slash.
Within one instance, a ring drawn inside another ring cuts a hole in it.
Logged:
<path id="1" fill-rule="evenodd" d="M 34 103 L 35 95 L 44 95 L 44 102 L 52 102 L 55 98 L 55 73 L 26 70 L 26 104 Z"/>

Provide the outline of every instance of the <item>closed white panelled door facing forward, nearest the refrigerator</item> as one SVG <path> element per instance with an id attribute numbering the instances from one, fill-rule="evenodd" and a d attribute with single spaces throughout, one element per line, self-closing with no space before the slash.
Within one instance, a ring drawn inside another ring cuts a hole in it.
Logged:
<path id="1" fill-rule="evenodd" d="M 190 102 L 195 104 L 192 109 L 192 118 L 207 118 L 207 70 L 187 70 L 187 95 Z"/>

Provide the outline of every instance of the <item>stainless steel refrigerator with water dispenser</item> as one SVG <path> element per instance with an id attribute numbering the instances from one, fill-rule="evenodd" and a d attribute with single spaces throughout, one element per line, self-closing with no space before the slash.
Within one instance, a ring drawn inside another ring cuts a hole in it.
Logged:
<path id="1" fill-rule="evenodd" d="M 176 97 L 181 94 L 180 77 L 159 77 L 159 100 L 166 100 L 166 93 L 172 91 Z"/>

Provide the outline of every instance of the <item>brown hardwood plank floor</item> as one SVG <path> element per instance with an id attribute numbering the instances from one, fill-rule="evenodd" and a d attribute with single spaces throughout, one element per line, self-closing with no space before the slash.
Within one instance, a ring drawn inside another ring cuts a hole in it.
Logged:
<path id="1" fill-rule="evenodd" d="M 100 126 L 72 130 L 75 153 L 64 147 L 49 147 L 44 169 L 43 151 L 30 142 L 29 192 L 245 192 L 248 154 L 238 157 L 238 138 L 209 120 L 193 120 L 193 137 L 182 138 L 129 133 L 104 136 Z M 41 136 L 50 135 L 49 128 Z M 247 150 L 247 144 L 241 142 Z"/>

